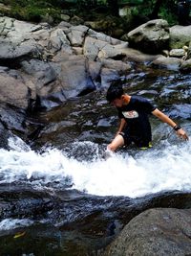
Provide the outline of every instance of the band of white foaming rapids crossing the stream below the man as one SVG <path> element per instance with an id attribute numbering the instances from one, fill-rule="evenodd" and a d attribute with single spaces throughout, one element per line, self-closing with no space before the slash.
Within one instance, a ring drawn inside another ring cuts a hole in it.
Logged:
<path id="1" fill-rule="evenodd" d="M 79 143 L 80 147 L 97 145 Z M 141 151 L 134 157 L 115 153 L 108 159 L 79 161 L 63 151 L 32 151 L 18 138 L 0 150 L 0 183 L 24 181 L 38 188 L 69 186 L 97 196 L 137 198 L 162 190 L 191 190 L 191 142 Z M 77 147 L 75 143 L 74 147 Z M 94 152 L 90 152 L 94 153 Z M 50 185 L 51 184 L 51 185 Z"/>

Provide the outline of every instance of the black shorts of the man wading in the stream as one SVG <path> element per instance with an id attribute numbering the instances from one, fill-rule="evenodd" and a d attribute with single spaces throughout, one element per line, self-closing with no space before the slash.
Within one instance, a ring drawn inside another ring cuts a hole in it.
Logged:
<path id="1" fill-rule="evenodd" d="M 142 150 L 152 148 L 151 139 L 150 138 L 140 138 L 138 136 L 131 136 L 126 132 L 119 133 L 124 140 L 124 146 L 129 146 L 132 143 L 135 143 L 136 146 Z"/>

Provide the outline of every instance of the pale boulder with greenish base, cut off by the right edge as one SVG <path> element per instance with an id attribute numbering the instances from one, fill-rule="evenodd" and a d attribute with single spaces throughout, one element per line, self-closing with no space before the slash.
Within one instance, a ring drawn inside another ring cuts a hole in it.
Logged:
<path id="1" fill-rule="evenodd" d="M 170 49 L 188 46 L 191 41 L 191 26 L 176 25 L 170 28 Z"/>

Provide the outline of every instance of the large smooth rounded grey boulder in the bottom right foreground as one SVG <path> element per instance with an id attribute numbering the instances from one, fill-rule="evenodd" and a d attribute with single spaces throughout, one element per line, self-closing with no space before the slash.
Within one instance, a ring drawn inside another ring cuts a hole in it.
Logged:
<path id="1" fill-rule="evenodd" d="M 130 221 L 104 256 L 191 254 L 191 210 L 150 209 Z"/>

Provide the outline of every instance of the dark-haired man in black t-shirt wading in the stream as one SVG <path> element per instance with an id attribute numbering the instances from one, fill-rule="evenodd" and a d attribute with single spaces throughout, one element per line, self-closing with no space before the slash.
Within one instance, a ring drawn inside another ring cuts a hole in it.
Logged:
<path id="1" fill-rule="evenodd" d="M 163 114 L 148 100 L 140 96 L 124 94 L 121 85 L 111 84 L 107 91 L 107 101 L 117 107 L 120 125 L 115 139 L 108 145 L 108 150 L 116 151 L 121 146 L 135 143 L 138 148 L 151 147 L 152 133 L 148 119 L 149 114 L 157 116 L 167 123 L 178 136 L 188 140 L 186 132 L 172 119 Z"/>

